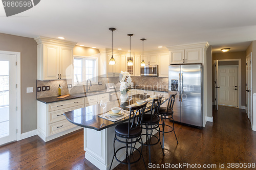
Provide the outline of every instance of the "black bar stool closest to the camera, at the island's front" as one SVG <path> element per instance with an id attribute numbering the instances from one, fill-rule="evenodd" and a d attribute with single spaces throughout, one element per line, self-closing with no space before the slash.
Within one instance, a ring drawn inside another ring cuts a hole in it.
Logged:
<path id="1" fill-rule="evenodd" d="M 143 105 L 140 105 L 140 106 L 131 107 L 129 121 L 116 126 L 116 128 L 115 128 L 115 138 L 114 138 L 114 155 L 113 155 L 113 158 L 112 158 L 110 169 L 111 169 L 114 158 L 116 158 L 116 160 L 119 163 L 128 164 L 128 168 L 130 170 L 131 169 L 131 164 L 138 162 L 141 157 L 143 159 L 143 162 L 144 162 L 144 165 L 145 165 L 145 168 L 146 168 L 146 164 L 145 164 L 145 161 L 144 161 L 144 158 L 143 158 L 143 155 L 142 155 L 142 144 L 141 144 L 141 151 L 139 151 L 137 148 L 135 148 L 136 142 L 141 140 L 141 143 L 142 143 L 142 139 L 141 139 L 142 127 L 141 127 L 141 124 L 142 124 L 142 118 L 143 118 L 143 115 L 144 115 L 144 112 L 145 112 L 146 104 L 147 104 L 147 102 L 144 103 Z M 118 148 L 115 151 L 115 141 L 116 140 L 118 142 L 124 143 L 125 147 Z M 134 144 L 134 147 L 133 147 L 133 144 Z M 130 154 L 129 154 L 129 148 L 130 148 Z M 122 149 L 125 149 L 125 151 L 126 151 L 126 160 L 127 160 L 127 162 L 122 162 L 121 160 L 119 160 L 116 157 L 117 152 L 122 150 Z M 132 151 L 134 151 L 134 150 L 137 150 L 140 153 L 140 157 L 137 160 L 131 162 L 131 155 L 133 154 Z"/>

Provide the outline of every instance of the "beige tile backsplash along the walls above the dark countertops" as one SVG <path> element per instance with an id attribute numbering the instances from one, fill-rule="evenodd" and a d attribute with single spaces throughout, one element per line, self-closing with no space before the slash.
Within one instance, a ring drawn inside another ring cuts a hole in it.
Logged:
<path id="1" fill-rule="evenodd" d="M 160 77 L 131 77 L 134 82 L 134 86 L 145 86 L 150 87 L 152 90 L 154 88 L 164 88 L 168 89 L 168 78 L 160 78 Z M 120 87 L 119 77 L 114 78 L 101 78 L 98 77 L 98 81 L 102 82 L 102 85 L 93 84 L 90 87 L 90 91 L 103 90 L 106 88 L 106 83 L 114 83 L 117 88 Z M 75 93 L 83 93 L 86 91 L 86 86 L 84 85 L 72 85 L 72 88 L 68 89 L 68 84 L 72 84 L 72 80 L 49 80 L 49 81 L 40 81 L 37 80 L 37 87 L 42 86 L 50 86 L 50 90 L 47 91 L 39 91 L 36 93 L 36 98 L 47 98 L 51 96 L 58 95 L 58 87 L 59 84 L 62 86 L 61 95 L 65 94 L 75 94 Z"/>

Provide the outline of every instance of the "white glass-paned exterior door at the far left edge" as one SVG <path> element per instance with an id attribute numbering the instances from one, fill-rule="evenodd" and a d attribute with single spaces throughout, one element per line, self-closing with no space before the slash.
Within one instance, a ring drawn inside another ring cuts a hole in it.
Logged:
<path id="1" fill-rule="evenodd" d="M 16 55 L 0 53 L 0 145 L 17 140 Z"/>

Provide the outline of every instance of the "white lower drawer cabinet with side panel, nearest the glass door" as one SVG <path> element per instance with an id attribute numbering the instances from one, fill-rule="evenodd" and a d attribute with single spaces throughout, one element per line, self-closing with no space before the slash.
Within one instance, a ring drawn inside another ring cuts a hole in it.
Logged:
<path id="1" fill-rule="evenodd" d="M 71 124 L 63 113 L 83 107 L 83 98 L 50 104 L 37 101 L 37 135 L 46 142 L 80 129 Z"/>

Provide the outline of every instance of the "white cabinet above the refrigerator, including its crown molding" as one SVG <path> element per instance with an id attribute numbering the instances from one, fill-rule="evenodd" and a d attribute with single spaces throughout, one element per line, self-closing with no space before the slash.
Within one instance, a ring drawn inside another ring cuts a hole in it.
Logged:
<path id="1" fill-rule="evenodd" d="M 170 64 L 203 63 L 203 49 L 208 43 L 170 46 Z"/>

